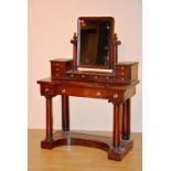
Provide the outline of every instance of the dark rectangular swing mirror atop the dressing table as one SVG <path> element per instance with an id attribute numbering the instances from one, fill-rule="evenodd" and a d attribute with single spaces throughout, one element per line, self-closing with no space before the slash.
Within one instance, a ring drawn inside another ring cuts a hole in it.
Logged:
<path id="1" fill-rule="evenodd" d="M 111 20 L 78 19 L 78 66 L 109 67 Z"/>

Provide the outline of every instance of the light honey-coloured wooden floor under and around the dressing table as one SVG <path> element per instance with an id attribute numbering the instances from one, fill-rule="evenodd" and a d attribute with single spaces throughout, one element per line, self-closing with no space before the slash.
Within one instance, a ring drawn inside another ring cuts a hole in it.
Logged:
<path id="1" fill-rule="evenodd" d="M 132 133 L 133 149 L 121 162 L 117 162 L 107 160 L 105 151 L 94 148 L 63 146 L 53 150 L 41 149 L 40 140 L 44 132 L 29 130 L 29 171 L 141 171 L 141 133 Z M 113 132 L 84 132 L 113 136 Z"/>

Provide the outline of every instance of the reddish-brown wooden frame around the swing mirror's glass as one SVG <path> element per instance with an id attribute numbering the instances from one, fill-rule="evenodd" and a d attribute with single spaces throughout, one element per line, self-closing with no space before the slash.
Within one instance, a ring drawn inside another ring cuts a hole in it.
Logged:
<path id="1" fill-rule="evenodd" d="M 109 64 L 108 66 L 101 66 L 101 65 L 81 65 L 79 64 L 79 58 L 81 58 L 81 20 L 86 20 L 86 21 L 107 21 L 110 22 L 110 31 L 109 31 Z M 77 20 L 77 67 L 86 67 L 86 68 L 100 68 L 100 70 L 110 70 L 111 63 L 114 61 L 114 24 L 115 20 L 111 17 L 81 17 Z"/>

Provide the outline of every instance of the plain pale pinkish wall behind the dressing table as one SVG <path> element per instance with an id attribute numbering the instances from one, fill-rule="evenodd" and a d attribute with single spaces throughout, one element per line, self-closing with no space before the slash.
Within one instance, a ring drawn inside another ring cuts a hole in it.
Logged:
<path id="1" fill-rule="evenodd" d="M 38 79 L 50 76 L 50 60 L 72 58 L 78 17 L 114 17 L 121 40 L 119 61 L 138 61 L 140 84 L 131 98 L 131 130 L 142 130 L 141 0 L 29 0 L 29 128 L 45 128 L 45 98 Z M 113 130 L 113 105 L 104 99 L 70 97 L 71 128 Z M 53 99 L 54 128 L 61 129 L 61 97 Z"/>

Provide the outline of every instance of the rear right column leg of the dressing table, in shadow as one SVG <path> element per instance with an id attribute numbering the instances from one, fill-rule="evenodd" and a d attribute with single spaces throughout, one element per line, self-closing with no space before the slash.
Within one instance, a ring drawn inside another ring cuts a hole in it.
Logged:
<path id="1" fill-rule="evenodd" d="M 130 99 L 122 104 L 121 138 L 124 140 L 129 140 L 130 138 Z"/>

